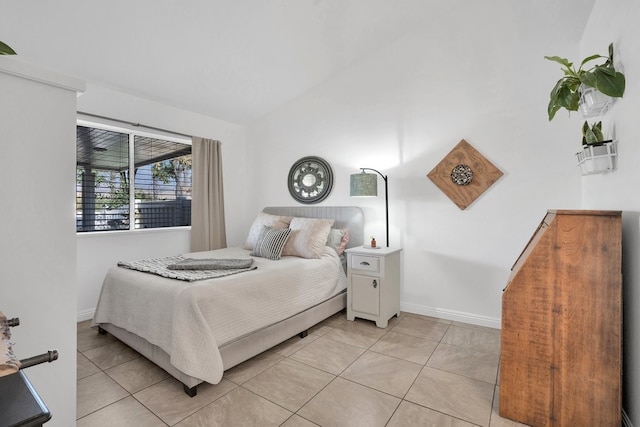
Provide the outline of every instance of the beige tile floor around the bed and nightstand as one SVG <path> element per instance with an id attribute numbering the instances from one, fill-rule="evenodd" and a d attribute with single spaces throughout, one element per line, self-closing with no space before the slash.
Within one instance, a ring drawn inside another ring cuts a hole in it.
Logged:
<path id="1" fill-rule="evenodd" d="M 78 324 L 77 425 L 518 426 L 498 415 L 500 332 L 402 313 L 336 314 L 189 398 L 166 372 Z"/>

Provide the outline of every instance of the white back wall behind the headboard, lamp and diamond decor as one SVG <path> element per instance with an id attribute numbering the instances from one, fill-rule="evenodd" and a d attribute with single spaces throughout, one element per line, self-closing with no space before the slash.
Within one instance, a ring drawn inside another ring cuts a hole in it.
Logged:
<path id="1" fill-rule="evenodd" d="M 543 59 L 577 53 L 578 39 L 554 39 L 553 23 L 513 2 L 441 3 L 429 12 L 455 9 L 455 26 L 414 28 L 248 126 L 262 182 L 250 203 L 294 204 L 289 168 L 317 155 L 335 175 L 322 203 L 363 206 L 367 237 L 383 242 L 383 198 L 348 194 L 350 174 L 378 169 L 389 176 L 391 245 L 404 249 L 402 309 L 499 327 L 510 268 L 546 210 L 580 207 L 580 131 L 548 122 L 561 74 Z M 461 211 L 426 174 L 463 138 L 504 176 Z"/>

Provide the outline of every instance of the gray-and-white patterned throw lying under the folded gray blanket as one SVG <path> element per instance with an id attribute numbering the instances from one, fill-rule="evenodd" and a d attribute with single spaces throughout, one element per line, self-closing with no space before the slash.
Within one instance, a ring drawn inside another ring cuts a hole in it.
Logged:
<path id="1" fill-rule="evenodd" d="M 143 259 L 140 261 L 119 261 L 118 266 L 128 268 L 130 270 L 142 271 L 144 273 L 156 274 L 158 276 L 166 277 L 169 279 L 185 280 L 187 282 L 230 276 L 232 274 L 255 270 L 257 268 L 255 265 L 253 265 L 253 259 L 242 259 L 242 261 L 245 262 L 251 261 L 248 267 L 235 267 L 215 270 L 169 269 L 169 266 L 178 265 L 184 262 L 186 259 L 188 258 L 185 258 L 182 255 L 176 255 L 166 258 Z"/>

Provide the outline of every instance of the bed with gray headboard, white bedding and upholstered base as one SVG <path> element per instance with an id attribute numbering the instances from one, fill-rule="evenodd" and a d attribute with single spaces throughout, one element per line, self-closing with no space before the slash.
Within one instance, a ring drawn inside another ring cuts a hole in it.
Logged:
<path id="1" fill-rule="evenodd" d="M 290 224 L 276 228 L 288 231 L 273 230 L 273 224 L 264 222 L 283 217 L 292 218 Z M 340 250 L 329 241 L 316 248 L 318 258 L 292 249 L 291 244 L 310 232 L 307 224 L 317 222 L 329 222 L 331 235 L 340 232 Z M 182 256 L 191 261 L 250 258 L 254 262 L 247 271 L 189 281 L 113 267 L 103 283 L 94 326 L 163 368 L 195 396 L 198 384 L 217 384 L 223 371 L 291 337 L 304 336 L 346 307 L 345 261 L 338 253 L 363 244 L 363 226 L 358 207 L 266 207 L 242 248 Z M 277 260 L 250 255 L 260 254 L 267 229 L 291 236 Z"/>

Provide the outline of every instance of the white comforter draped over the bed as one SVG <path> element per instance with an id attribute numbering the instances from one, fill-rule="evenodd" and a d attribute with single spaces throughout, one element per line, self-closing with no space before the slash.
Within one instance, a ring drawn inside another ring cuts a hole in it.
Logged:
<path id="1" fill-rule="evenodd" d="M 191 258 L 248 258 L 241 248 L 189 254 Z M 184 282 L 113 267 L 105 277 L 94 323 L 111 323 L 167 352 L 182 372 L 217 384 L 218 346 L 319 304 L 346 288 L 335 251 L 321 259 L 254 258 L 257 269 Z"/>

